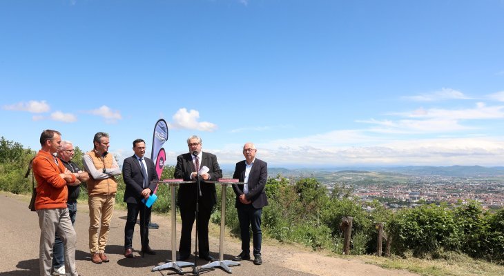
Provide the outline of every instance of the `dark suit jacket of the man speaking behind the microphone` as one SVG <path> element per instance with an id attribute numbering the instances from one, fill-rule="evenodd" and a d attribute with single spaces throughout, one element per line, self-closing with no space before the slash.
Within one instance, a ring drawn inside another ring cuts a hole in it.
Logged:
<path id="1" fill-rule="evenodd" d="M 210 180 L 217 181 L 222 178 L 222 170 L 217 157 L 209 152 L 203 152 L 200 168 L 208 167 Z M 177 165 L 175 166 L 175 178 L 182 178 L 184 181 L 197 180 L 191 179 L 191 173 L 195 172 L 196 168 L 193 163 L 193 155 L 190 152 L 177 156 Z M 217 193 L 215 193 L 215 184 L 204 181 L 200 177 L 200 186 L 202 196 L 199 203 L 205 208 L 212 208 L 217 203 Z M 195 208 L 197 195 L 197 184 L 180 184 L 177 205 L 180 208 Z"/>

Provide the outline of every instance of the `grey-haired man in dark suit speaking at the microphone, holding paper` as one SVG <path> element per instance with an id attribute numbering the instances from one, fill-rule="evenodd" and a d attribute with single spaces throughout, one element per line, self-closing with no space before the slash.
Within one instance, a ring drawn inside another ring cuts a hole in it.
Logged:
<path id="1" fill-rule="evenodd" d="M 199 203 L 197 217 L 197 237 L 199 241 L 199 255 L 201 259 L 215 262 L 217 259 L 210 255 L 209 221 L 212 208 L 217 202 L 215 184 L 206 180 L 217 180 L 222 177 L 222 170 L 217 163 L 217 157 L 209 152 L 202 152 L 202 139 L 193 135 L 187 139 L 189 152 L 177 157 L 175 178 L 184 181 L 200 178 L 201 193 L 197 197 L 197 184 L 182 184 L 178 189 L 177 204 L 182 218 L 180 235 L 179 258 L 184 261 L 191 255 L 191 232 L 196 217 L 196 200 Z M 206 168 L 205 168 L 206 167 Z M 208 170 L 205 172 L 205 170 Z M 198 172 L 199 171 L 199 172 Z"/>

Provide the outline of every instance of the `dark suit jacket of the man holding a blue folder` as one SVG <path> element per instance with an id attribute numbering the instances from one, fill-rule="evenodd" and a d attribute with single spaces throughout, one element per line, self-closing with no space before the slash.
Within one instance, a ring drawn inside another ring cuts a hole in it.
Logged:
<path id="1" fill-rule="evenodd" d="M 154 192 L 159 177 L 157 177 L 154 162 L 146 157 L 144 157 L 144 159 L 147 165 L 146 170 L 149 180 L 148 187 L 146 188 Z M 135 155 L 124 159 L 124 163 L 122 164 L 122 178 L 124 179 L 124 184 L 126 184 L 124 202 L 139 204 L 142 198 L 144 198 L 142 197 L 142 190 L 144 190 L 144 173 Z"/>

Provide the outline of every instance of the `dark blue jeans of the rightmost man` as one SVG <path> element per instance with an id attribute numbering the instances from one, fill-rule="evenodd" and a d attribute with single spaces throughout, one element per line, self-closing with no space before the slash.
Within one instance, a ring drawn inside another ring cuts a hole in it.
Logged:
<path id="1" fill-rule="evenodd" d="M 252 226 L 253 255 L 261 255 L 261 215 L 262 208 L 256 209 L 252 204 L 238 207 L 238 221 L 240 221 L 240 236 L 242 237 L 242 251 L 250 255 L 250 227 Z"/>

